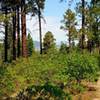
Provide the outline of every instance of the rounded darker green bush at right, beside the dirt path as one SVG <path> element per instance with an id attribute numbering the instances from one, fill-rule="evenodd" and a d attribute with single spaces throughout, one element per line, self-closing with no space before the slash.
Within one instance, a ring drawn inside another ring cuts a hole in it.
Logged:
<path id="1" fill-rule="evenodd" d="M 100 70 L 97 58 L 89 54 L 71 54 L 67 63 L 65 74 L 69 76 L 69 80 L 77 82 L 81 82 L 83 79 L 93 79 Z"/>

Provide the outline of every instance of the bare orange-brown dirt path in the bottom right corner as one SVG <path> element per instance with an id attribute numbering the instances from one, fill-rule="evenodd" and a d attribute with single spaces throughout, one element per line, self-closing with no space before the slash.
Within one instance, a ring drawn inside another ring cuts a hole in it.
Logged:
<path id="1" fill-rule="evenodd" d="M 100 78 L 95 84 L 88 84 L 89 91 L 76 95 L 73 100 L 100 100 Z"/>

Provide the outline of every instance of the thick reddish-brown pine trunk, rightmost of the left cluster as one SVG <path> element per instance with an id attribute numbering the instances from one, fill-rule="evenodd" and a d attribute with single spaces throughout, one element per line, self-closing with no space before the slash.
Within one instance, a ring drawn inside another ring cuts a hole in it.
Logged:
<path id="1" fill-rule="evenodd" d="M 25 0 L 22 0 L 22 6 L 21 6 L 21 25 L 22 25 L 22 56 L 27 57 Z"/>

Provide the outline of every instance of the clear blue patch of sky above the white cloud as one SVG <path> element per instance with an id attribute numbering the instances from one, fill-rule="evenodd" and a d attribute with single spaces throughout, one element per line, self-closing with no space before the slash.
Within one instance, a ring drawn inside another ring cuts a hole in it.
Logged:
<path id="1" fill-rule="evenodd" d="M 60 0 L 46 0 L 44 15 L 45 16 L 58 16 L 61 17 L 62 14 L 68 9 L 68 4 L 71 0 L 67 0 L 66 2 L 60 2 Z M 77 0 L 79 1 L 79 0 Z M 71 8 L 74 9 L 75 0 L 73 0 Z"/>

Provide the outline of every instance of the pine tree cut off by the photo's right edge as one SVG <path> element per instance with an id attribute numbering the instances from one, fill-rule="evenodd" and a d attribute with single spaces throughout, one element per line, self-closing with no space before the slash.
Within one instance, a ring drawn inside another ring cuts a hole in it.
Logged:
<path id="1" fill-rule="evenodd" d="M 91 0 L 90 5 L 91 17 L 94 18 L 94 21 L 91 25 L 91 30 L 93 33 L 93 41 L 95 46 L 98 48 L 100 53 L 100 1 Z"/>

